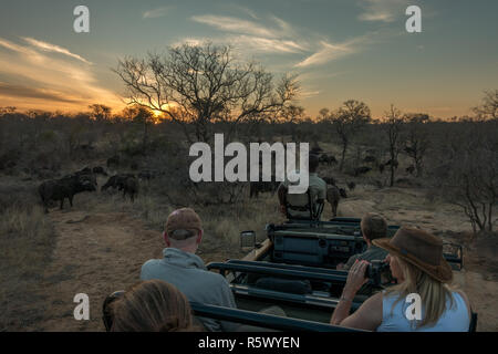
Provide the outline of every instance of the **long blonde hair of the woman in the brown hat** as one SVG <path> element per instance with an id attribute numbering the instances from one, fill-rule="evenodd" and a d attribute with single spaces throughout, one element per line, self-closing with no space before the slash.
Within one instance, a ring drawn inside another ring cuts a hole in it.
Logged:
<path id="1" fill-rule="evenodd" d="M 391 257 L 396 257 L 391 254 Z M 425 309 L 422 322 L 417 324 L 418 327 L 424 325 L 435 324 L 446 310 L 446 301 L 450 300 L 449 306 L 454 305 L 454 299 L 449 287 L 440 281 L 432 278 L 419 268 L 396 257 L 400 269 L 403 272 L 404 281 L 401 284 L 391 287 L 386 290 L 386 295 L 397 294 L 398 298 L 391 309 L 393 313 L 394 306 L 397 302 L 406 299 L 411 293 L 421 295 L 423 308 Z"/>

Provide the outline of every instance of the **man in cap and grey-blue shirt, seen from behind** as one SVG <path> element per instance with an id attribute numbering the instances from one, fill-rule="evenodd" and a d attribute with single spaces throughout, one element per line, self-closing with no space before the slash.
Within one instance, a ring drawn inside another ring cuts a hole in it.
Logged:
<path id="1" fill-rule="evenodd" d="M 236 308 L 234 294 L 227 280 L 206 269 L 196 256 L 203 239 L 199 216 L 190 208 L 173 211 L 163 233 L 166 248 L 163 259 L 152 259 L 142 266 L 141 280 L 164 280 L 183 292 L 189 301 Z M 208 331 L 235 331 L 237 326 L 199 317 Z"/>

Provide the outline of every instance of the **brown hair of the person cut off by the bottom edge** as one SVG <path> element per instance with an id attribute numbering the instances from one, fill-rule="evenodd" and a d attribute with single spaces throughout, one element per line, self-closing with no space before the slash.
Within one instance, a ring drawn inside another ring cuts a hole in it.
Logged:
<path id="1" fill-rule="evenodd" d="M 132 285 L 111 304 L 112 332 L 198 331 L 190 304 L 174 285 L 149 280 Z"/>

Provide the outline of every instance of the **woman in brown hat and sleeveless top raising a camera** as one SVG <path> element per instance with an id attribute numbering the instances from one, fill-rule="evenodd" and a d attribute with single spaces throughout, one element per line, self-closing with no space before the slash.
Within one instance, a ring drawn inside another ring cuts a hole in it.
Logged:
<path id="1" fill-rule="evenodd" d="M 467 332 L 471 311 L 463 292 L 450 290 L 449 264 L 443 257 L 439 238 L 415 228 L 402 227 L 392 239 L 373 240 L 390 252 L 386 261 L 397 285 L 367 299 L 349 316 L 352 300 L 367 281 L 369 262 L 356 261 L 351 268 L 342 296 L 331 317 L 331 324 L 370 331 Z M 416 293 L 422 300 L 422 320 L 408 320 L 406 310 Z"/>

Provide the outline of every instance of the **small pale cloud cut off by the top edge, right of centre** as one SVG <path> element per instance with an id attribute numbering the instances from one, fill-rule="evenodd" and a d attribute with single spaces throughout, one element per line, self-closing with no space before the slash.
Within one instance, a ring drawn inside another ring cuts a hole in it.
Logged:
<path id="1" fill-rule="evenodd" d="M 364 12 L 360 13 L 360 21 L 393 22 L 396 17 L 403 15 L 403 8 L 408 6 L 407 0 L 362 0 Z"/>

